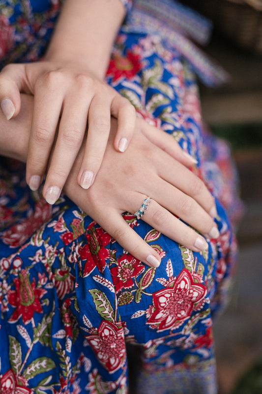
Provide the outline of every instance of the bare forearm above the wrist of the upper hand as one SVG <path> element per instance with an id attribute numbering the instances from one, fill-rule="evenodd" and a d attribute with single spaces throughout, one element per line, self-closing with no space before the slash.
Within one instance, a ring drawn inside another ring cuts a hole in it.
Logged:
<path id="1" fill-rule="evenodd" d="M 120 0 L 66 0 L 46 59 L 77 60 L 103 78 L 124 14 Z"/>

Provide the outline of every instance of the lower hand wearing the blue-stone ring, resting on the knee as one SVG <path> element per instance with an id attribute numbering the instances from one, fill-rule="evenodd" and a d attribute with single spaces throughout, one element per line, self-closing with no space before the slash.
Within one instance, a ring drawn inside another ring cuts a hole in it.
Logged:
<path id="1" fill-rule="evenodd" d="M 147 196 L 150 204 L 143 220 L 193 251 L 207 249 L 204 237 L 217 238 L 219 231 L 212 217 L 216 212 L 214 199 L 204 182 L 185 166 L 188 158 L 174 139 L 164 139 L 161 148 L 149 141 L 144 134 L 148 135 L 150 127 L 138 119 L 129 149 L 118 153 L 113 146 L 117 121 L 112 118 L 104 160 L 93 186 L 84 190 L 77 183 L 82 152 L 64 191 L 124 249 L 147 265 L 156 267 L 160 263 L 158 253 L 122 217 L 123 212 L 138 211 Z M 144 134 L 143 128 L 146 128 Z M 155 141 L 157 131 L 153 129 L 152 140 Z M 164 132 L 158 132 L 162 137 Z"/>

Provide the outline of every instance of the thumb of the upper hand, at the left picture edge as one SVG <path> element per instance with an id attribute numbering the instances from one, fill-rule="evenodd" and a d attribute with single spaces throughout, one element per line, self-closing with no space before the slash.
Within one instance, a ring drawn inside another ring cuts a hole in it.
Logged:
<path id="1" fill-rule="evenodd" d="M 20 111 L 20 92 L 25 91 L 25 79 L 23 64 L 10 64 L 0 72 L 0 107 L 7 120 Z"/>

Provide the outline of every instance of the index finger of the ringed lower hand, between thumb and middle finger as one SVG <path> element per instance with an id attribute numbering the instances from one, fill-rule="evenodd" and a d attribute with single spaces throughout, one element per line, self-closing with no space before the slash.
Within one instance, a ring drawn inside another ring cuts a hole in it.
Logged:
<path id="1" fill-rule="evenodd" d="M 162 179 L 192 197 L 212 218 L 216 217 L 214 198 L 202 179 L 169 155 L 158 155 L 156 160 L 158 174 Z"/>

